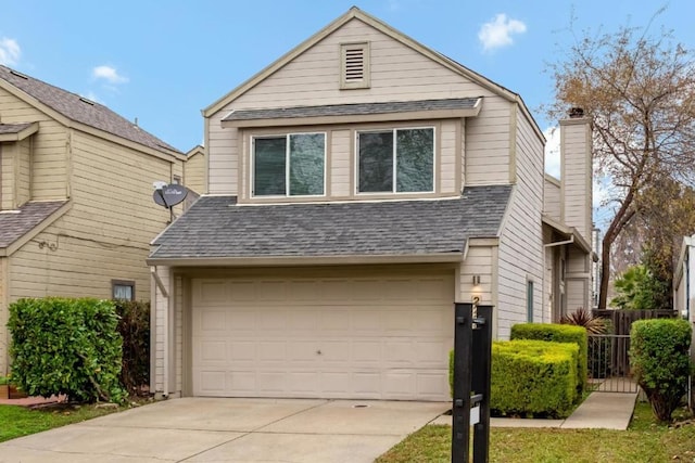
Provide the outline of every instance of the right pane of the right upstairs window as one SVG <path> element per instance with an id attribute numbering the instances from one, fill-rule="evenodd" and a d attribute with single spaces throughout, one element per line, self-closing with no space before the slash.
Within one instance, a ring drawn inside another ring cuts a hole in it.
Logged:
<path id="1" fill-rule="evenodd" d="M 396 191 L 434 190 L 434 129 L 396 131 Z"/>

